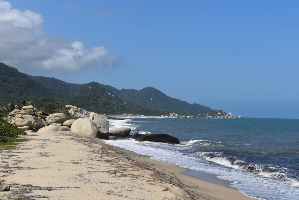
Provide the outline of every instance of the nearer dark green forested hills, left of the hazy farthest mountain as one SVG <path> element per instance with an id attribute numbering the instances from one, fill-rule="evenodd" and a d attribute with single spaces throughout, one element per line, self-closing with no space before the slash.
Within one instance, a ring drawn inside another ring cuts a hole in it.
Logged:
<path id="1" fill-rule="evenodd" d="M 165 115 L 135 103 L 125 103 L 100 83 L 72 84 L 55 78 L 30 76 L 0 63 L 0 105 L 26 99 L 53 98 L 61 105 L 71 104 L 89 111 L 106 114 Z"/>

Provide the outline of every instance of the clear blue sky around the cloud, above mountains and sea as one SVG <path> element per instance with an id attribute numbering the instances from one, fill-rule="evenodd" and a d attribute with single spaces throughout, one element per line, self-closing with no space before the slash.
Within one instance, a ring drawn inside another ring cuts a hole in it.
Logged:
<path id="1" fill-rule="evenodd" d="M 118 89 L 152 86 L 245 117 L 299 118 L 298 1 L 9 2 L 41 14 L 43 37 L 80 41 L 84 55 L 104 46 L 115 56 L 81 59 L 77 71 L 16 62 L 22 72 Z"/>

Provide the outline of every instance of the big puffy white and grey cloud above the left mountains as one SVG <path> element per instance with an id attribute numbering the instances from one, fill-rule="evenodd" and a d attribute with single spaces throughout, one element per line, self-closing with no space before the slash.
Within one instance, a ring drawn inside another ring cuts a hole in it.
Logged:
<path id="1" fill-rule="evenodd" d="M 43 22 L 40 13 L 22 12 L 0 1 L 0 62 L 18 68 L 69 71 L 120 63 L 120 58 L 103 46 L 86 48 L 80 41 L 47 36 Z"/>

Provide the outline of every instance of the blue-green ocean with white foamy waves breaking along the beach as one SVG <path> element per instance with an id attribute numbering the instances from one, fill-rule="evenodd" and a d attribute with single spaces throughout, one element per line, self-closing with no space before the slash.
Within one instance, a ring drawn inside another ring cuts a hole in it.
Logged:
<path id="1" fill-rule="evenodd" d="M 299 199 L 299 120 L 125 117 L 110 129 L 166 133 L 181 144 L 106 141 L 152 159 L 216 175 L 258 199 Z"/>

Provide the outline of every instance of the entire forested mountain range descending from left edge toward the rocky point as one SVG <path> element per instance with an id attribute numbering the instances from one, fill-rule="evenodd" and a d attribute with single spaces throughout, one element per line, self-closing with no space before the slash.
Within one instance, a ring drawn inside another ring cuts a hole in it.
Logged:
<path id="1" fill-rule="evenodd" d="M 142 90 L 121 89 L 97 82 L 67 83 L 59 79 L 30 76 L 16 68 L 0 63 L 0 105 L 22 99 L 53 98 L 62 105 L 71 104 L 107 114 L 165 115 L 176 112 L 198 115 L 211 109 L 196 103 L 190 104 L 163 92 L 147 87 Z"/>

